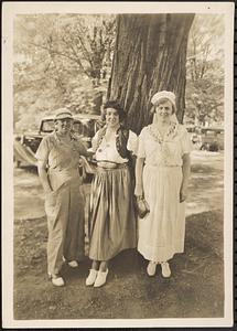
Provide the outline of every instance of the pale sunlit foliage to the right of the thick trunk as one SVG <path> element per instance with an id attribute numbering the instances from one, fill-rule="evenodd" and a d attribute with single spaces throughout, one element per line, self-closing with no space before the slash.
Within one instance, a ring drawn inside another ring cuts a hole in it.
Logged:
<path id="1" fill-rule="evenodd" d="M 190 32 L 186 120 L 196 125 L 224 118 L 224 17 L 196 15 Z"/>

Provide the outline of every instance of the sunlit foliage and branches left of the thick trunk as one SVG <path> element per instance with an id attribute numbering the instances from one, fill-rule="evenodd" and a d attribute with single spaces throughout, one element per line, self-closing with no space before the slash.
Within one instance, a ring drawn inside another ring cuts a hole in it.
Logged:
<path id="1" fill-rule="evenodd" d="M 14 21 L 15 129 L 67 106 L 99 111 L 114 51 L 112 15 L 35 14 Z"/>

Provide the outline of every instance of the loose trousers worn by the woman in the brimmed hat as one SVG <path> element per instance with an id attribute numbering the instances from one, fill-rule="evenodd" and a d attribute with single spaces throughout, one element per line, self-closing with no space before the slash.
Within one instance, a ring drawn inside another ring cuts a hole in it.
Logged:
<path id="1" fill-rule="evenodd" d="M 85 196 L 79 180 L 72 179 L 46 195 L 47 273 L 58 274 L 63 257 L 79 260 L 84 257 Z"/>

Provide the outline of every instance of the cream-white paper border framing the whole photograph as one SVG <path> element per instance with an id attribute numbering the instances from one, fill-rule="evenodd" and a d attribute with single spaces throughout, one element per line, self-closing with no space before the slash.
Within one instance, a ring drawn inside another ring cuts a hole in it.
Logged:
<path id="1" fill-rule="evenodd" d="M 96 8 L 96 10 L 95 10 Z M 3 328 L 143 328 L 231 327 L 233 302 L 233 137 L 234 137 L 234 2 L 3 2 L 2 6 L 2 327 Z M 224 318 L 209 319 L 13 319 L 13 103 L 12 44 L 17 14 L 31 13 L 222 13 L 225 15 L 225 195 L 224 195 Z"/>

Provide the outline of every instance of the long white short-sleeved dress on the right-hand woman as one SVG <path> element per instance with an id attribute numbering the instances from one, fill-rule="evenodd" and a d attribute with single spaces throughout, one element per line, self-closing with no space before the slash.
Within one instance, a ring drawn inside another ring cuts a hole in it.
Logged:
<path id="1" fill-rule="evenodd" d="M 150 213 L 138 220 L 138 250 L 148 260 L 166 261 L 184 252 L 185 202 L 180 203 L 182 157 L 192 150 L 186 129 L 172 124 L 163 140 L 153 125 L 139 136 L 144 158 L 143 189 Z"/>

